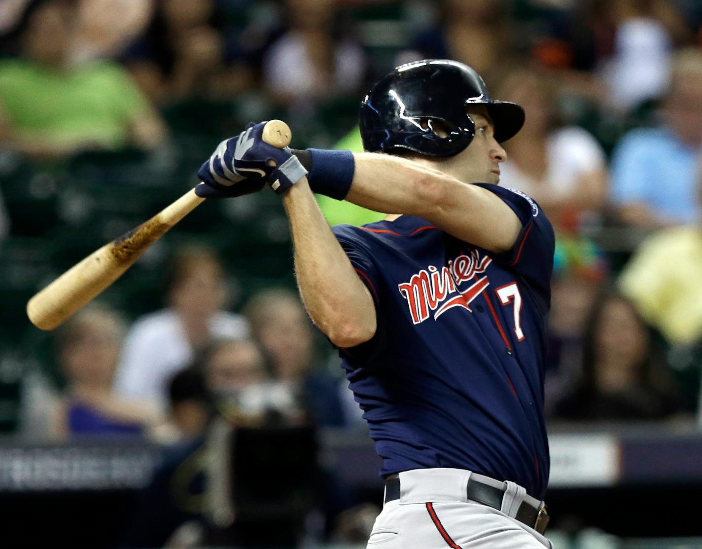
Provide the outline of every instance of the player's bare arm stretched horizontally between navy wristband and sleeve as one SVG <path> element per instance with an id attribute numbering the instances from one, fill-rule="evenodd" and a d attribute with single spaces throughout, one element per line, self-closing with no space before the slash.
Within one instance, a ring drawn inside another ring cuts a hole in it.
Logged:
<path id="1" fill-rule="evenodd" d="M 354 154 L 346 199 L 385 213 L 405 213 L 490 251 L 512 247 L 521 229 L 515 213 L 493 193 L 417 162 L 386 154 Z"/>

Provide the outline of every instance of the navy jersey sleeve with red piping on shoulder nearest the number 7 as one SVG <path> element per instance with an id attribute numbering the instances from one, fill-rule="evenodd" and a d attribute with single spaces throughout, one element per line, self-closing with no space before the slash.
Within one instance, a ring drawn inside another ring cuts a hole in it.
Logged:
<path id="1" fill-rule="evenodd" d="M 491 257 L 523 277 L 536 291 L 536 296 L 548 311 L 551 303 L 551 274 L 555 237 L 550 221 L 538 204 L 519 190 L 475 183 L 500 197 L 522 222 L 522 230 L 511 250 L 491 254 Z"/>

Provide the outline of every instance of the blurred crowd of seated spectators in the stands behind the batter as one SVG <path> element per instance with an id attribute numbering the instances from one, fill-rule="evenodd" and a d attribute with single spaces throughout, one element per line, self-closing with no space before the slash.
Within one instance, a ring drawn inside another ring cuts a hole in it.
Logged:
<path id="1" fill-rule="evenodd" d="M 194 103 L 205 108 L 185 111 L 190 128 L 220 139 L 239 131 L 244 105 L 300 128 L 300 148 L 360 150 L 355 109 L 380 74 L 467 63 L 494 97 L 524 106 L 501 185 L 534 197 L 557 232 L 550 420 L 702 424 L 699 2 L 4 0 L 0 40 L 0 171 L 8 158 L 51 170 L 86 152 L 172 158 L 184 119 L 168 113 Z M 331 124 L 343 105 L 350 117 Z M 334 223 L 380 218 L 321 204 Z M 21 224 L 0 199 L 0 239 Z M 98 304 L 56 333 L 55 371 L 23 374 L 20 433 L 178 444 L 220 418 L 363 425 L 292 285 L 232 299 L 226 263 L 199 236 L 155 259 L 164 308 L 134 318 Z"/>

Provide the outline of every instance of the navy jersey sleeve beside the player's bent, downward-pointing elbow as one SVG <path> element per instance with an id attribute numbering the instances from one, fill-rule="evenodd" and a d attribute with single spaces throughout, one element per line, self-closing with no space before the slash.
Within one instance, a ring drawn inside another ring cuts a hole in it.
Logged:
<path id="1" fill-rule="evenodd" d="M 370 340 L 354 348 L 340 349 L 339 354 L 351 362 L 357 359 L 362 361 L 364 365 L 369 366 L 373 362 L 377 362 L 380 355 L 382 355 L 386 332 L 385 318 L 380 308 L 381 289 L 378 267 L 373 261 L 371 244 L 367 242 L 358 227 L 353 225 L 334 225 L 331 227 L 331 230 L 359 278 L 371 293 L 373 304 L 376 306 L 377 327 L 375 335 Z"/>

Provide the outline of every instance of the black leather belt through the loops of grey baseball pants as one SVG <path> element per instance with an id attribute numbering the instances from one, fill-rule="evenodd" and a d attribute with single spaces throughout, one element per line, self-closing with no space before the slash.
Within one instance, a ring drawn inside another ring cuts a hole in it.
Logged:
<path id="1" fill-rule="evenodd" d="M 468 490 L 466 497 L 472 501 L 477 501 L 483 505 L 487 505 L 493 509 L 500 510 L 502 508 L 502 498 L 505 494 L 504 489 L 496 488 L 490 484 L 480 481 L 475 478 L 476 475 L 471 475 L 468 479 Z M 385 481 L 385 503 L 399 499 L 399 479 L 388 479 Z M 546 531 L 548 527 L 548 511 L 543 501 L 538 501 L 536 498 L 527 496 L 522 505 L 519 505 L 515 519 L 519 522 L 527 524 L 539 534 Z"/>

